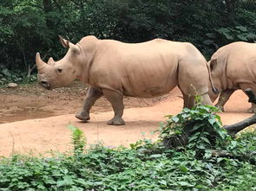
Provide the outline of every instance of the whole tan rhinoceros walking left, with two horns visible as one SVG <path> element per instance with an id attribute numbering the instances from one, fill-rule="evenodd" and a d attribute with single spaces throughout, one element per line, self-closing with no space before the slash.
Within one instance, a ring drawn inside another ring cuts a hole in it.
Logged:
<path id="1" fill-rule="evenodd" d="M 89 84 L 82 111 L 75 116 L 82 121 L 89 120 L 91 106 L 104 95 L 115 112 L 108 124 L 125 124 L 121 118 L 123 95 L 152 98 L 177 85 L 184 106 L 194 105 L 196 93 L 202 96 L 203 104 L 212 104 L 207 94 L 207 61 L 190 43 L 155 39 L 132 44 L 98 40 L 93 35 L 77 44 L 61 36 L 60 40 L 64 48 L 69 48 L 62 60 L 50 58 L 46 64 L 36 54 L 38 80 L 46 89 L 68 86 L 75 79 Z"/>

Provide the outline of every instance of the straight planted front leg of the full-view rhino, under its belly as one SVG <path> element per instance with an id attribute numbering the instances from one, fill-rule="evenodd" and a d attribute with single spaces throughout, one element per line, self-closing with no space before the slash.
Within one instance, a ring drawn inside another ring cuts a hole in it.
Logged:
<path id="1" fill-rule="evenodd" d="M 113 124 L 113 125 L 125 124 L 124 120 L 121 118 L 123 114 L 123 109 L 124 109 L 121 93 L 110 91 L 110 90 L 103 90 L 102 92 L 104 96 L 108 99 L 110 104 L 112 105 L 115 113 L 114 118 L 110 119 L 108 121 L 108 124 Z"/>

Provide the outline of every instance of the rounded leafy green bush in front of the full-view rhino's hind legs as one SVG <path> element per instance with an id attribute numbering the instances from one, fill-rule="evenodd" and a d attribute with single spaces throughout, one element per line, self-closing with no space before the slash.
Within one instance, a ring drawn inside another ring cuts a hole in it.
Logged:
<path id="1" fill-rule="evenodd" d="M 218 109 L 210 105 L 184 108 L 178 115 L 169 116 L 166 124 L 161 124 L 160 137 L 164 141 L 186 137 L 187 149 L 198 151 L 216 149 L 216 142 L 229 143 L 231 137 L 222 128 L 220 116 L 214 114 L 216 111 Z"/>

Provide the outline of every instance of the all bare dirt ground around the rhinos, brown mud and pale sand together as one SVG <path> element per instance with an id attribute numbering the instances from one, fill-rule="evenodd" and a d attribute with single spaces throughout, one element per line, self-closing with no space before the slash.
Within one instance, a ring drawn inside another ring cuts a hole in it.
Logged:
<path id="1" fill-rule="evenodd" d="M 181 111 L 181 92 L 175 88 L 154 99 L 124 98 L 125 126 L 109 126 L 113 111 L 108 100 L 97 100 L 89 123 L 81 123 L 75 113 L 82 108 L 87 87 L 79 82 L 66 88 L 46 91 L 34 85 L 0 88 L 0 156 L 11 153 L 45 154 L 46 151 L 69 151 L 73 124 L 82 131 L 88 143 L 102 142 L 108 146 L 135 143 L 141 138 L 156 138 L 152 131 L 165 120 L 164 116 Z M 223 124 L 233 124 L 252 116 L 246 95 L 237 91 L 220 113 Z M 251 127 L 251 129 L 254 127 Z"/>

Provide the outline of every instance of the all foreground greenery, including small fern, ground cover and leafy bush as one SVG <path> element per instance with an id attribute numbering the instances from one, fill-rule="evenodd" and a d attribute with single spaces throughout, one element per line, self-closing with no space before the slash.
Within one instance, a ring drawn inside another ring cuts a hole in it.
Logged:
<path id="1" fill-rule="evenodd" d="M 174 132 L 170 131 L 170 121 L 182 124 L 200 120 L 207 129 L 219 131 L 214 145 L 206 133 L 196 135 L 195 125 L 189 144 L 183 148 L 167 149 L 161 140 L 144 140 L 131 144 L 130 149 L 95 145 L 83 152 L 82 131 L 69 126 L 73 131 L 73 155 L 3 158 L 0 190 L 256 190 L 256 131 L 232 139 L 220 131 L 214 110 L 208 106 L 186 109 L 161 127 L 162 138 L 172 133 L 179 136 L 181 126 L 173 126 Z M 212 149 L 224 150 L 228 155 L 214 156 L 209 152 Z M 203 155 L 198 155 L 202 150 Z"/>

